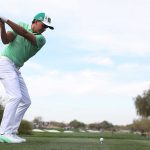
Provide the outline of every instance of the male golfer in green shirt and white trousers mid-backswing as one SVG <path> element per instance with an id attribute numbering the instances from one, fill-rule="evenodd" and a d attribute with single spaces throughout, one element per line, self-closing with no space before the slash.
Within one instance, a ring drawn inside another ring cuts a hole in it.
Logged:
<path id="1" fill-rule="evenodd" d="M 6 32 L 5 24 L 10 26 L 10 31 Z M 19 69 L 44 46 L 46 39 L 42 33 L 47 28 L 54 29 L 50 24 L 51 18 L 45 13 L 38 13 L 31 25 L 16 24 L 0 16 L 1 40 L 7 44 L 0 52 L 0 81 L 8 95 L 0 126 L 0 142 L 26 142 L 17 133 L 31 100 Z"/>

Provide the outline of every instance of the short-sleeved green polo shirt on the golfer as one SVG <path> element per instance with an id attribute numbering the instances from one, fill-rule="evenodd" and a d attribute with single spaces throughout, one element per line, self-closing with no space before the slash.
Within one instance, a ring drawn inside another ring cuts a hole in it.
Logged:
<path id="1" fill-rule="evenodd" d="M 25 23 L 19 23 L 24 29 L 28 32 L 33 33 L 31 26 Z M 14 31 L 16 38 L 9 43 L 4 51 L 0 54 L 1 56 L 6 56 L 10 60 L 12 60 L 18 67 L 22 67 L 23 64 L 32 56 L 34 56 L 46 43 L 46 39 L 42 34 L 33 33 L 36 36 L 37 45 L 33 45 L 29 40 L 24 37 L 18 35 Z"/>

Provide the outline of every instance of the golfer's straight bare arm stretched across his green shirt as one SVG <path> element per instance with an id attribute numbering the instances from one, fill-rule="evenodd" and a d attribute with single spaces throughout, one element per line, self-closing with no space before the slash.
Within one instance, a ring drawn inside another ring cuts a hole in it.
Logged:
<path id="1" fill-rule="evenodd" d="M 7 20 L 6 23 L 13 29 L 14 32 L 16 32 L 17 34 L 29 40 L 33 45 L 36 45 L 36 37 L 34 34 L 28 32 L 27 30 L 22 28 L 20 25 L 12 22 L 11 20 Z"/>

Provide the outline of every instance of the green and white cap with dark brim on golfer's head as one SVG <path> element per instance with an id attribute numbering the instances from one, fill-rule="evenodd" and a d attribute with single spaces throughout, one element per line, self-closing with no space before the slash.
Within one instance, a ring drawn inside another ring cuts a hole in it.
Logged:
<path id="1" fill-rule="evenodd" d="M 51 24 L 51 18 L 47 16 L 45 13 L 38 13 L 35 17 L 35 20 L 39 20 L 43 22 L 46 26 L 48 26 L 51 30 L 54 30 L 54 27 L 52 27 Z"/>

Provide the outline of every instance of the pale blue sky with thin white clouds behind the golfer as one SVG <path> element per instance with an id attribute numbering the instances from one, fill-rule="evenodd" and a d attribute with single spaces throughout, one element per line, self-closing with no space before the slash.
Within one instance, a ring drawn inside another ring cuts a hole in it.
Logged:
<path id="1" fill-rule="evenodd" d="M 0 15 L 16 23 L 31 24 L 46 12 L 55 28 L 21 68 L 32 100 L 24 119 L 126 125 L 139 117 L 135 98 L 150 87 L 149 0 L 5 0 L 1 6 Z M 2 85 L 0 95 L 5 99 Z"/>

